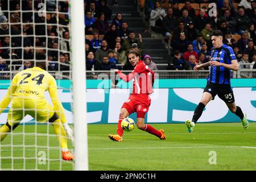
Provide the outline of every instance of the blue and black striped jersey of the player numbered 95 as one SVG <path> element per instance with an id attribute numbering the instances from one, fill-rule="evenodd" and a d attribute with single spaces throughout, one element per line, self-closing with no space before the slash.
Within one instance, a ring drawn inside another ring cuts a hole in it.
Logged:
<path id="1" fill-rule="evenodd" d="M 222 44 L 220 48 L 212 48 L 210 61 L 218 61 L 220 63 L 231 64 L 232 60 L 236 60 L 236 55 L 232 47 Z M 210 67 L 208 82 L 214 84 L 230 84 L 231 71 L 222 66 Z"/>

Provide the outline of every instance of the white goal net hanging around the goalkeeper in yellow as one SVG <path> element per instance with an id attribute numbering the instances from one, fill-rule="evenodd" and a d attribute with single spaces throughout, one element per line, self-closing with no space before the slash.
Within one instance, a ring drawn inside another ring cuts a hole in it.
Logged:
<path id="1" fill-rule="evenodd" d="M 77 65 L 74 63 L 76 51 L 71 51 L 72 48 L 77 49 L 79 46 L 79 44 L 77 44 L 78 46 L 72 44 L 75 40 L 70 39 L 74 26 L 71 24 L 71 18 L 75 19 L 71 15 L 71 10 L 72 6 L 75 6 L 72 3 L 75 2 L 80 3 L 80 6 L 83 5 L 81 0 L 1 1 L 0 100 L 6 96 L 11 80 L 18 72 L 33 67 L 38 61 L 46 61 L 46 70 L 56 79 L 59 101 L 63 105 L 67 122 L 75 129 L 75 142 L 72 143 L 67 135 L 68 150 L 73 154 L 80 154 L 81 152 L 75 152 L 75 148 L 76 150 L 81 148 L 76 146 L 78 142 L 81 142 L 81 138 L 77 136 L 85 136 L 86 130 L 81 135 L 76 134 L 76 131 L 81 132 L 82 130 L 77 129 L 79 127 L 76 127 L 76 123 L 73 125 L 73 120 L 76 118 L 73 108 L 77 107 L 73 101 L 76 100 L 74 94 L 77 94 L 77 91 L 75 91 L 76 83 L 72 82 L 72 77 L 73 72 L 82 70 L 75 67 Z M 81 14 L 78 15 L 81 16 Z M 81 22 L 82 20 L 80 20 Z M 73 34 L 75 33 L 77 34 L 77 32 L 73 32 Z M 81 45 L 84 46 L 84 43 L 80 44 L 80 47 Z M 81 79 L 85 80 L 85 73 L 81 72 L 80 75 L 81 77 L 84 75 Z M 26 81 L 26 77 L 24 77 L 24 81 Z M 45 98 L 52 105 L 48 92 L 45 92 Z M 0 115 L 1 127 L 7 122 L 11 104 L 12 102 L 8 107 L 1 108 L 3 110 Z M 63 160 L 61 146 L 51 122 L 39 122 L 38 118 L 33 118 L 27 113 L 29 113 L 29 109 L 26 110 L 23 104 L 23 119 L 15 130 L 8 133 L 7 137 L 0 142 L 0 171 L 86 169 L 86 166 L 76 168 L 75 164 L 79 164 L 80 160 L 86 165 L 86 159 L 82 159 L 81 156 L 77 156 L 75 162 Z M 14 116 L 11 115 L 11 119 L 12 117 Z M 85 122 L 85 120 L 80 122 Z M 84 140 L 86 141 L 86 138 Z"/>

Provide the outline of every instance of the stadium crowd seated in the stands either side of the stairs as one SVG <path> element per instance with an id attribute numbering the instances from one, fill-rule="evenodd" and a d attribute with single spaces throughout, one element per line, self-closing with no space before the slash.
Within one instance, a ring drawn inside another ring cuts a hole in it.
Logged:
<path id="1" fill-rule="evenodd" d="M 42 2 L 46 3 L 46 16 L 37 12 Z M 217 11 L 203 4 L 212 2 Z M 200 9 L 192 7 L 195 3 Z M 0 6 L 2 71 L 26 69 L 26 61 L 33 59 L 48 59 L 50 71 L 69 71 L 68 1 L 1 1 Z M 113 15 L 106 0 L 84 0 L 84 9 L 85 34 L 92 36 L 85 40 L 86 70 L 132 70 L 125 51 L 143 48 L 142 35 L 129 28 L 122 13 Z M 241 68 L 256 68 L 255 0 L 145 0 L 141 11 L 148 24 L 145 32 L 161 34 L 168 42 L 167 69 L 193 69 L 207 62 L 213 30 L 222 31 L 224 43 L 233 47 Z M 150 55 L 141 59 L 152 70 L 158 69 Z"/>

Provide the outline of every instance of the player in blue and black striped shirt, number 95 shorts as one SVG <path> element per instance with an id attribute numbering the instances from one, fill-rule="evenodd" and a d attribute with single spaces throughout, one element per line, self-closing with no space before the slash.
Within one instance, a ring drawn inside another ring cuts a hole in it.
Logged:
<path id="1" fill-rule="evenodd" d="M 213 31 L 211 39 L 213 48 L 210 61 L 194 67 L 195 71 L 199 71 L 199 69 L 210 65 L 210 73 L 207 78 L 207 86 L 204 89 L 203 97 L 195 109 L 192 121 L 187 119 L 185 122 L 188 132 L 191 133 L 193 131 L 196 122 L 203 113 L 204 107 L 210 100 L 214 100 L 216 95 L 226 103 L 232 113 L 240 117 L 244 129 L 246 129 L 249 126 L 246 113 L 243 113 L 241 107 L 236 106 L 233 90 L 230 86 L 231 70 L 238 71 L 239 69 L 236 56 L 232 47 L 222 43 L 223 35 L 220 30 Z"/>

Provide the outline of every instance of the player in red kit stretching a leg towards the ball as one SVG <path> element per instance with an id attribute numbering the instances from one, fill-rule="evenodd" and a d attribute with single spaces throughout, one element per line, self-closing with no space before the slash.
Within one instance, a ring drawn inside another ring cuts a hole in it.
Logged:
<path id="1" fill-rule="evenodd" d="M 121 122 L 131 113 L 136 112 L 138 128 L 164 140 L 166 139 L 166 136 L 164 135 L 163 129 L 158 131 L 154 127 L 144 123 L 145 114 L 151 104 L 150 94 L 154 92 L 152 85 L 154 84 L 155 73 L 152 72 L 142 60 L 139 60 L 141 51 L 138 48 L 129 49 L 126 52 L 126 55 L 128 56 L 131 65 L 134 67 L 133 72 L 129 73 L 129 75 L 124 75 L 118 69 L 114 69 L 114 72 L 118 73 L 120 78 L 125 82 L 133 80 L 133 92 L 130 94 L 128 100 L 122 105 L 117 125 L 117 134 L 109 135 L 109 138 L 121 142 L 123 139 Z"/>

